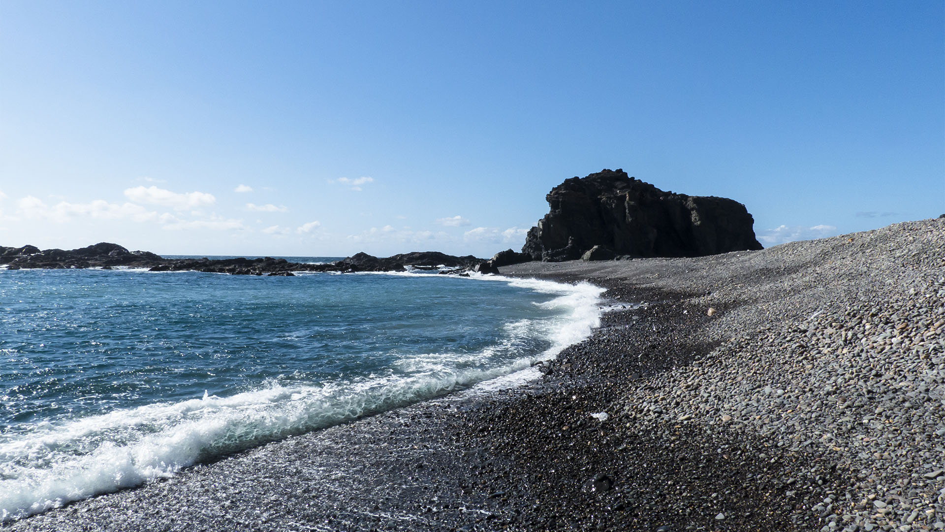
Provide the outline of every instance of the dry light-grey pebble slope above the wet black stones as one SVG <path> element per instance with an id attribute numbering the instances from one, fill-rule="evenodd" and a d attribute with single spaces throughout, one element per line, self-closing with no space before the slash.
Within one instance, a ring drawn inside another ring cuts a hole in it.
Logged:
<path id="1" fill-rule="evenodd" d="M 945 528 L 945 220 L 642 262 L 594 275 L 696 294 L 683 311 L 709 318 L 699 334 L 713 349 L 628 386 L 622 420 L 744 434 L 829 465 L 835 488 L 795 515 L 810 528 Z M 794 461 L 779 475 L 798 486 L 817 470 Z"/>

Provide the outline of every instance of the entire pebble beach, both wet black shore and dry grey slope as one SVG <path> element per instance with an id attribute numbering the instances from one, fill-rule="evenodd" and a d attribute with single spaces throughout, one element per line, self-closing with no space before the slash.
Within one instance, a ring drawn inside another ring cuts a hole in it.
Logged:
<path id="1" fill-rule="evenodd" d="M 928 366 L 943 362 L 943 249 L 945 221 L 930 220 L 759 252 L 503 267 L 645 305 L 605 314 L 538 381 L 365 417 L 3 527 L 935 529 L 945 474 L 929 475 L 943 468 L 933 453 L 945 426 L 913 411 L 942 399 L 945 375 Z M 883 324 L 892 332 L 879 338 Z M 908 332 L 909 344 L 892 342 Z M 873 367 L 871 353 L 902 371 Z M 881 416 L 896 409 L 908 416 Z"/>

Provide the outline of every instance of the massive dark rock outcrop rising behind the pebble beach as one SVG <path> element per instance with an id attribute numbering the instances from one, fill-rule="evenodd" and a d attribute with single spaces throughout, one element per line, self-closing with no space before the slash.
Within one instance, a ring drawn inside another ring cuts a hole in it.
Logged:
<path id="1" fill-rule="evenodd" d="M 545 199 L 551 210 L 528 231 L 522 248 L 535 260 L 581 258 L 594 246 L 600 247 L 588 259 L 762 249 L 745 205 L 664 192 L 619 168 L 567 179 Z"/>

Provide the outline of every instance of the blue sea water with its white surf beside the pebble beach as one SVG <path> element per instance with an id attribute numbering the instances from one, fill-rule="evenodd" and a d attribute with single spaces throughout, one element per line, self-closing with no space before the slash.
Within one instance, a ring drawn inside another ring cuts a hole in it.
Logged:
<path id="1" fill-rule="evenodd" d="M 532 378 L 599 324 L 602 292 L 421 271 L 0 270 L 0 522 Z"/>

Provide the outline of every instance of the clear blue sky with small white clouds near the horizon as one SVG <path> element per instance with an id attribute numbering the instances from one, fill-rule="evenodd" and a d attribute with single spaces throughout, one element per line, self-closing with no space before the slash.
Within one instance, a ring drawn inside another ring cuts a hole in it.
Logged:
<path id="1" fill-rule="evenodd" d="M 929 2 L 0 2 L 0 245 L 489 257 L 566 178 L 945 212 Z"/>

